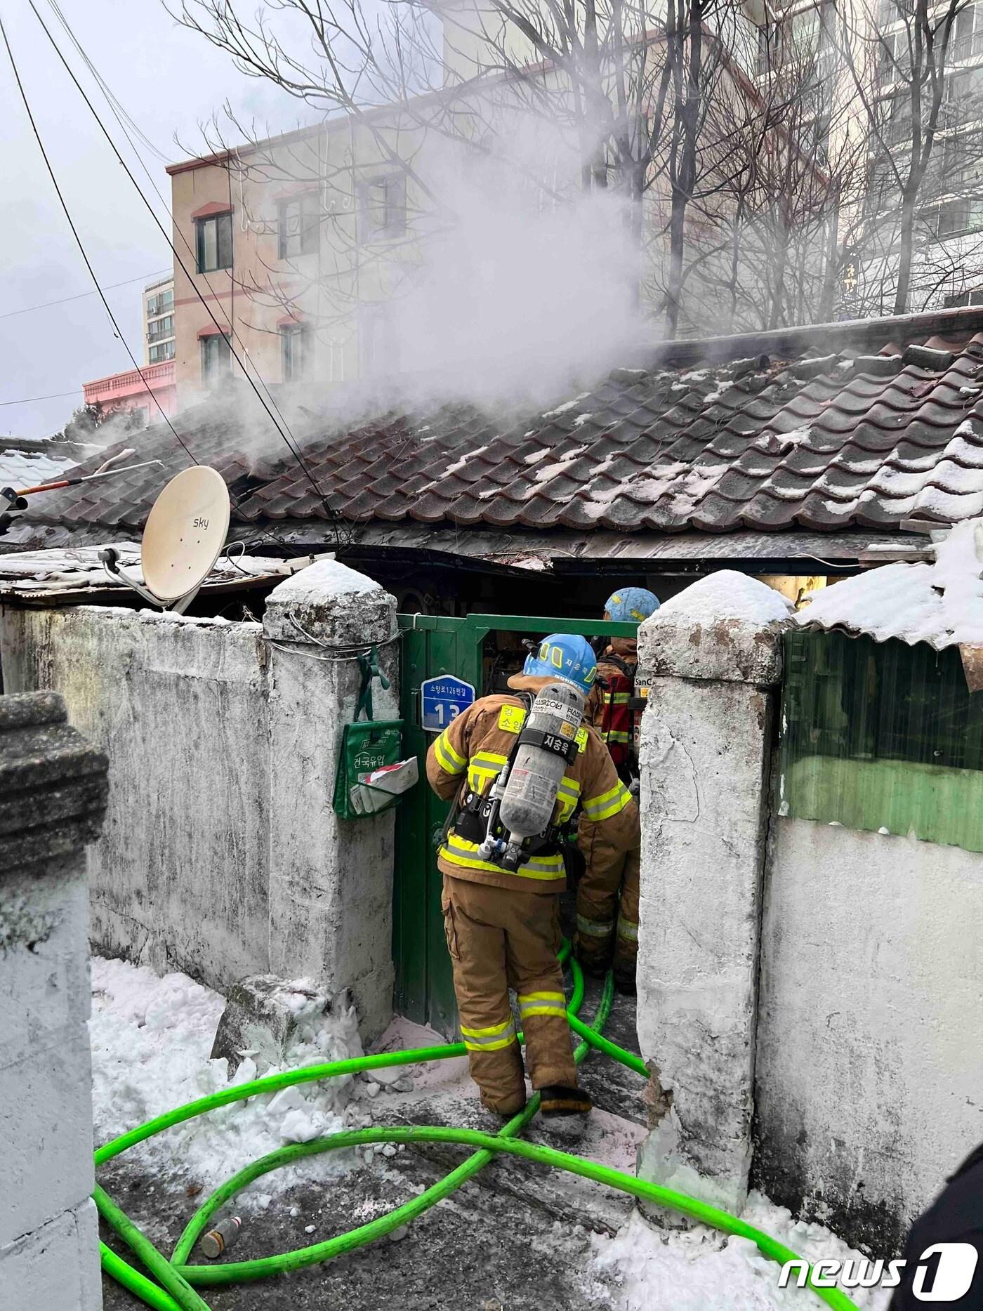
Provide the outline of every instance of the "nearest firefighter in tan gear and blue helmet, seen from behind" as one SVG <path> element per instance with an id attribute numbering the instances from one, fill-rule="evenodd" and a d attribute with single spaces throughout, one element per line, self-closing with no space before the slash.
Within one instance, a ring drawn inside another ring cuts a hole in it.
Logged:
<path id="1" fill-rule="evenodd" d="M 585 696 L 594 684 L 595 656 L 583 637 L 554 635 L 531 654 L 509 687 L 535 696 L 547 683 L 571 683 Z M 460 1029 L 471 1074 L 486 1109 L 503 1117 L 526 1105 L 523 1059 L 509 988 L 518 994 L 519 1028 L 533 1089 L 545 1116 L 587 1114 L 591 1100 L 577 1087 L 566 1021 L 560 948 L 560 893 L 566 878 L 561 834 L 579 810 L 582 830 L 596 835 L 599 878 L 620 867 L 638 843 L 638 809 L 598 734 L 577 730 L 543 844 L 514 872 L 478 855 L 476 797 L 516 746 L 532 696 L 482 696 L 459 714 L 427 753 L 427 780 L 452 801 L 438 853 L 442 907 L 453 968 Z M 549 801 L 547 800 L 547 805 Z"/>

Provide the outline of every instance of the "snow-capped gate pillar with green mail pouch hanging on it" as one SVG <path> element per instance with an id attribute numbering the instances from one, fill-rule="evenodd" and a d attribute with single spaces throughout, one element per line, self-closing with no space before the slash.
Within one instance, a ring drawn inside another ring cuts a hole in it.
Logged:
<path id="1" fill-rule="evenodd" d="M 395 817 L 339 819 L 333 809 L 342 728 L 355 716 L 357 661 L 332 648 L 379 644 L 389 680 L 372 684 L 375 718 L 398 717 L 396 599 L 324 560 L 266 602 L 270 724 L 270 969 L 350 987 L 362 1036 L 392 1017 Z"/>

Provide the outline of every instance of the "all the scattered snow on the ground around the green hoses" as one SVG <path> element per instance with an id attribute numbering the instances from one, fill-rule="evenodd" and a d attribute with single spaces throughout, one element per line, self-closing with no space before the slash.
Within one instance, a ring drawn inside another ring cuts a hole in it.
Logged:
<path id="1" fill-rule="evenodd" d="M 185 974 L 159 978 L 152 970 L 100 957 L 92 962 L 92 985 L 89 1029 L 97 1143 L 227 1087 L 227 1062 L 210 1059 L 224 1006 L 218 992 L 194 983 Z M 410 1050 L 439 1042 L 431 1029 L 397 1017 L 376 1050 Z M 354 1017 L 349 1017 L 347 1021 L 329 1021 L 317 1042 L 301 1044 L 288 1054 L 287 1065 L 341 1059 L 358 1053 Z M 245 1059 L 232 1083 L 244 1083 L 254 1074 L 254 1063 Z M 287 1142 L 368 1124 L 363 1108 L 377 1096 L 379 1084 L 385 1084 L 391 1093 L 413 1093 L 415 1100 L 447 1096 L 471 1100 L 476 1096 L 463 1057 L 410 1068 L 376 1070 L 358 1080 L 336 1079 L 233 1103 L 138 1145 L 126 1159 L 161 1175 L 178 1173 L 211 1192 L 248 1162 Z M 582 1143 L 571 1150 L 632 1172 L 642 1133 L 629 1121 L 596 1110 Z M 351 1152 L 329 1152 L 266 1175 L 241 1194 L 240 1209 L 262 1210 L 277 1193 L 301 1179 L 337 1176 L 350 1167 L 353 1156 Z M 578 1185 L 581 1180 L 569 1179 L 570 1188 Z M 368 1200 L 353 1221 L 370 1219 L 385 1205 Z M 751 1194 L 743 1218 L 811 1261 L 860 1257 L 828 1230 L 793 1221 L 789 1211 L 760 1194 Z M 568 1238 L 573 1242 L 578 1235 L 583 1239 L 581 1227 L 570 1230 L 557 1224 L 554 1228 L 562 1230 L 553 1235 L 556 1242 Z M 612 1311 L 806 1311 L 820 1306 L 809 1291 L 780 1290 L 779 1266 L 760 1256 L 752 1243 L 726 1239 L 705 1228 L 666 1231 L 636 1211 L 615 1238 L 592 1235 L 590 1245 L 585 1286 L 609 1298 Z M 856 1290 L 852 1297 L 862 1311 L 886 1311 L 890 1294 Z"/>

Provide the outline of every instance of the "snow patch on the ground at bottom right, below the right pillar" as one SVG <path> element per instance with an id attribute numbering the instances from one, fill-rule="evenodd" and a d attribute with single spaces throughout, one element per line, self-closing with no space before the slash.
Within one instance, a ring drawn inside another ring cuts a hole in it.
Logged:
<path id="1" fill-rule="evenodd" d="M 819 1224 L 793 1221 L 785 1207 L 751 1193 L 742 1218 L 777 1238 L 810 1261 L 848 1261 L 861 1253 L 848 1248 Z M 613 1239 L 594 1238 L 592 1266 L 613 1285 L 616 1311 L 805 1311 L 819 1306 L 815 1294 L 779 1287 L 779 1265 L 761 1256 L 747 1239 L 725 1238 L 703 1227 L 659 1230 L 634 1211 Z M 794 1282 L 794 1281 L 793 1281 Z M 886 1311 L 887 1289 L 856 1289 L 849 1294 L 862 1311 Z"/>

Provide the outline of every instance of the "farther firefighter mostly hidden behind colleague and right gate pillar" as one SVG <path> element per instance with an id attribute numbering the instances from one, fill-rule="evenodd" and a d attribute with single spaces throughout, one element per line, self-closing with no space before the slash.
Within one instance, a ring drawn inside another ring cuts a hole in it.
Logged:
<path id="1" fill-rule="evenodd" d="M 659 608 L 658 597 L 646 587 L 623 587 L 604 606 L 604 619 L 642 623 Z M 634 675 L 638 642 L 612 637 L 598 658 L 598 682 L 587 703 L 587 717 L 611 753 L 619 777 L 638 793 L 638 760 L 634 750 L 637 711 Z M 606 974 L 613 966 L 615 986 L 634 994 L 638 958 L 638 884 L 641 847 L 636 844 L 620 861 L 591 860 L 598 836 L 578 835 L 587 869 L 577 886 L 577 958 L 588 974 Z"/>

